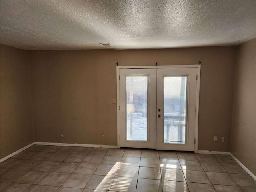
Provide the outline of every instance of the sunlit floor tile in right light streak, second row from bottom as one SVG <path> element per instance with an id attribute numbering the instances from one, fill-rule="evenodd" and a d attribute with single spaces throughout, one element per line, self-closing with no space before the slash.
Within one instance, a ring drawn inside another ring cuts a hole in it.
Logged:
<path id="1" fill-rule="evenodd" d="M 161 168 L 161 174 L 162 174 L 162 180 L 186 182 L 183 172 L 180 169 L 162 169 Z"/>

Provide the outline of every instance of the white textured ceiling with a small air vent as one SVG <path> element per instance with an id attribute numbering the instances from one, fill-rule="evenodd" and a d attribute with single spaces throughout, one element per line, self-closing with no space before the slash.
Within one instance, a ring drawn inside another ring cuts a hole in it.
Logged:
<path id="1" fill-rule="evenodd" d="M 237 45 L 256 37 L 254 0 L 1 0 L 0 14 L 1 43 L 26 50 Z"/>

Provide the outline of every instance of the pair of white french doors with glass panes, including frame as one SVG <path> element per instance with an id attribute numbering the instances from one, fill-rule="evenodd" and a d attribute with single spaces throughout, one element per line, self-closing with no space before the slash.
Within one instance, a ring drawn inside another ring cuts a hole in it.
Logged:
<path id="1" fill-rule="evenodd" d="M 118 146 L 197 150 L 200 66 L 117 67 Z"/>

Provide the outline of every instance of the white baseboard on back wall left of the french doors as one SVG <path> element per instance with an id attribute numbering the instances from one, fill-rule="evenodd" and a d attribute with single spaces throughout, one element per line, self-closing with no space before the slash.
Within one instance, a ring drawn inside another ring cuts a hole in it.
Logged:
<path id="1" fill-rule="evenodd" d="M 93 144 L 78 144 L 78 143 L 48 143 L 48 142 L 34 142 L 35 145 L 55 145 L 55 146 L 69 146 L 69 147 L 96 147 L 96 148 L 117 148 L 116 145 L 93 145 Z"/>

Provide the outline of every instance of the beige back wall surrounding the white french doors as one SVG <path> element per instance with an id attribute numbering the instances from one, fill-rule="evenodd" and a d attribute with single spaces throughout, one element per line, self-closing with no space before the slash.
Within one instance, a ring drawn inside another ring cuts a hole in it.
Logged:
<path id="1" fill-rule="evenodd" d="M 201 61 L 198 150 L 229 151 L 235 54 L 234 46 L 31 51 L 35 141 L 116 145 L 117 112 L 112 104 L 116 62 L 191 65 Z M 219 137 L 218 142 L 213 141 L 214 136 Z M 226 142 L 220 141 L 221 136 Z"/>

